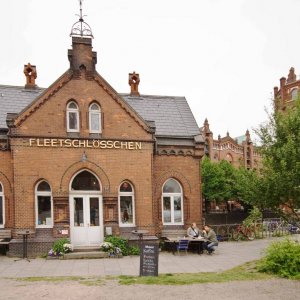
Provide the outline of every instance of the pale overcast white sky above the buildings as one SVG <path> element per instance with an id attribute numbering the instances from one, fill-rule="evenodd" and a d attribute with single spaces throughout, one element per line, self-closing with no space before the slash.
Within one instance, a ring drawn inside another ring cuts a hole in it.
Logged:
<path id="1" fill-rule="evenodd" d="M 0 84 L 23 85 L 24 64 L 48 87 L 68 67 L 78 0 L 1 0 Z M 185 96 L 214 136 L 251 131 L 291 66 L 300 74 L 300 0 L 83 0 L 97 71 L 120 93 Z"/>

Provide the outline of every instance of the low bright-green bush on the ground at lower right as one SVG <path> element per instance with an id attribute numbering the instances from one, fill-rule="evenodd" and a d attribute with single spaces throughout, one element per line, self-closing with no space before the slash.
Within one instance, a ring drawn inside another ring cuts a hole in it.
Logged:
<path id="1" fill-rule="evenodd" d="M 289 239 L 272 243 L 267 248 L 266 257 L 258 264 L 258 270 L 300 279 L 300 244 Z"/>

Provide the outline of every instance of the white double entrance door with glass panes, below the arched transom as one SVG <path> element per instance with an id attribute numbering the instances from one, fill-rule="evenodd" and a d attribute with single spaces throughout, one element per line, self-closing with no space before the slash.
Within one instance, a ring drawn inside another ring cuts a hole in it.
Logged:
<path id="1" fill-rule="evenodd" d="M 71 243 L 74 246 L 99 245 L 103 241 L 102 216 L 102 196 L 71 196 Z"/>

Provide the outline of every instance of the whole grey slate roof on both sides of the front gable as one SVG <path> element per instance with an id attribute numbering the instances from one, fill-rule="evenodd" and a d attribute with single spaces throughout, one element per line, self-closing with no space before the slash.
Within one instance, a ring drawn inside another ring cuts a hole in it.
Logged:
<path id="1" fill-rule="evenodd" d="M 0 85 L 0 128 L 7 128 L 7 113 L 24 111 L 47 90 Z M 125 104 L 128 104 L 145 124 L 150 127 L 155 126 L 155 135 L 157 136 L 192 137 L 200 133 L 185 97 L 118 95 L 125 100 Z"/>

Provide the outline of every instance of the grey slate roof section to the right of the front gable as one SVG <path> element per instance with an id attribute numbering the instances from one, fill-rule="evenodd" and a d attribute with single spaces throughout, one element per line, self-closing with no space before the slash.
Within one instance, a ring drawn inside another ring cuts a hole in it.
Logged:
<path id="1" fill-rule="evenodd" d="M 156 136 L 191 137 L 200 133 L 185 97 L 120 94 L 146 121 L 155 122 Z"/>

